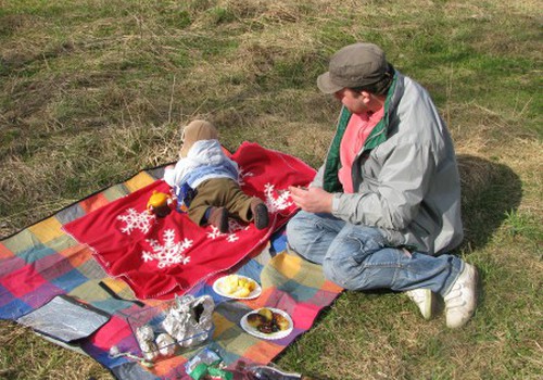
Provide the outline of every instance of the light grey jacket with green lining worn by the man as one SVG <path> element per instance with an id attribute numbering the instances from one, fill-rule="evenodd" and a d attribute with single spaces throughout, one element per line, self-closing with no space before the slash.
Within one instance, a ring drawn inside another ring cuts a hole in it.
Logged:
<path id="1" fill-rule="evenodd" d="M 332 215 L 380 228 L 391 246 L 451 251 L 464 237 L 451 136 L 428 92 L 399 72 L 387 103 L 386 137 L 358 153 L 352 169 L 358 192 L 334 192 Z M 312 186 L 324 186 L 325 166 Z"/>

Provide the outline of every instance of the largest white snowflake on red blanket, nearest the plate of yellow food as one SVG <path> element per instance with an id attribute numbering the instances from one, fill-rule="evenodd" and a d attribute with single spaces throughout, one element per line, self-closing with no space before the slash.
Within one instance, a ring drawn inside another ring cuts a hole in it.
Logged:
<path id="1" fill-rule="evenodd" d="M 190 257 L 186 256 L 184 252 L 192 246 L 192 240 L 185 238 L 184 241 L 175 242 L 175 230 L 167 229 L 164 231 L 164 244 L 161 245 L 154 239 L 146 239 L 151 245 L 153 252 L 141 252 L 141 258 L 147 263 L 150 261 L 159 261 L 159 269 L 169 267 L 175 264 L 186 265 L 190 262 Z"/>

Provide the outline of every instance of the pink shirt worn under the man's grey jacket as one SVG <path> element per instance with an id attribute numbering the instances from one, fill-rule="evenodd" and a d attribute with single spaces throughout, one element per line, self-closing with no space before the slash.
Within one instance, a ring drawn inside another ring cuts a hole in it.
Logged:
<path id="1" fill-rule="evenodd" d="M 340 160 L 341 168 L 338 172 L 338 178 L 343 185 L 345 193 L 353 193 L 353 179 L 351 169 L 353 161 L 364 147 L 374 127 L 381 121 L 384 114 L 384 107 L 372 114 L 357 115 L 353 114 L 341 139 Z"/>

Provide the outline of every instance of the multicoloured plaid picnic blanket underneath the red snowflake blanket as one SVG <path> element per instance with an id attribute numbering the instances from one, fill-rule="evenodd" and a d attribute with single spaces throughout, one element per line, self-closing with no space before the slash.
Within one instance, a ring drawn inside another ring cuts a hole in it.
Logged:
<path id="1" fill-rule="evenodd" d="M 278 152 L 274 154 L 280 155 L 287 163 L 299 163 L 295 157 Z M 162 174 L 161 167 L 138 173 L 0 241 L 0 318 L 17 320 L 56 295 L 67 295 L 110 317 L 91 335 L 63 345 L 91 356 L 117 379 L 186 378 L 184 364 L 197 350 L 161 360 L 153 368 L 146 368 L 126 357 L 113 358 L 109 355 L 113 345 L 138 354 L 139 347 L 128 316 L 162 301 L 139 301 L 129 282 L 123 277 L 110 276 L 94 259 L 92 249 L 63 230 L 63 226 L 78 218 L 156 185 Z M 318 266 L 286 252 L 282 229 L 273 233 L 268 241 L 268 246 L 260 253 L 253 252 L 240 258 L 226 271 L 256 279 L 263 288 L 257 299 L 231 302 L 214 293 L 212 283 L 222 274 L 209 275 L 187 291 L 195 296 L 213 296 L 216 303 L 213 314 L 215 329 L 209 346 L 217 351 L 228 366 L 233 367 L 238 362 L 269 363 L 296 337 L 307 331 L 318 313 L 341 292 L 340 288 L 324 279 Z M 277 341 L 260 340 L 245 333 L 239 325 L 241 316 L 261 306 L 286 311 L 294 322 L 292 333 Z"/>

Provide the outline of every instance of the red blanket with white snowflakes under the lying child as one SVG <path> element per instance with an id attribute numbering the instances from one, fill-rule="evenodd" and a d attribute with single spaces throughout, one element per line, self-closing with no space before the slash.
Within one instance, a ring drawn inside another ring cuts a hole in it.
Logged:
<path id="1" fill-rule="evenodd" d="M 307 186 L 315 170 L 302 161 L 244 142 L 231 159 L 240 168 L 240 185 L 263 199 L 270 213 L 267 229 L 230 223 L 230 232 L 199 227 L 185 214 L 157 218 L 147 212 L 153 190 L 169 192 L 157 180 L 67 225 L 64 230 L 88 244 L 112 277 L 124 279 L 139 299 L 172 297 L 210 276 L 258 253 L 269 236 L 296 212 L 288 186 Z"/>

